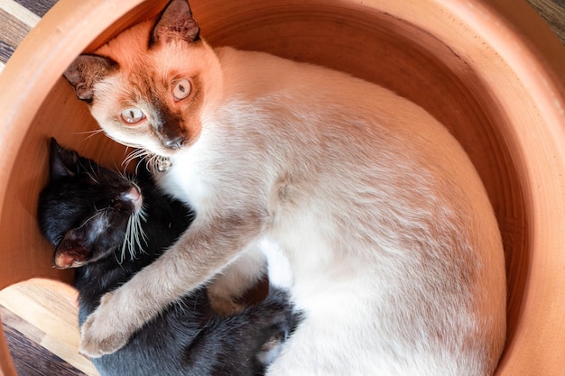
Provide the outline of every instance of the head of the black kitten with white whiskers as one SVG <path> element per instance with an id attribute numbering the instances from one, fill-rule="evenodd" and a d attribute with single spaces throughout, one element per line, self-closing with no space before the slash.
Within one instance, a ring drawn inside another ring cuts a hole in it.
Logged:
<path id="1" fill-rule="evenodd" d="M 75 268 L 122 249 L 143 216 L 140 189 L 129 179 L 51 141 L 50 181 L 40 194 L 42 233 L 55 245 L 53 266 Z M 136 219 L 137 218 L 137 219 Z M 123 255 L 121 257 L 124 257 Z"/>

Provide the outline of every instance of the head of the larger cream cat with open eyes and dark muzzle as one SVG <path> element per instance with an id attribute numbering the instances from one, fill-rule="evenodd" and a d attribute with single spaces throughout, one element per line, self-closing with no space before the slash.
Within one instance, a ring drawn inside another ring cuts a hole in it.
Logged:
<path id="1" fill-rule="evenodd" d="M 122 32 L 64 73 L 98 124 L 117 142 L 171 156 L 196 142 L 221 86 L 218 60 L 199 38 L 186 0 L 156 23 Z"/>

